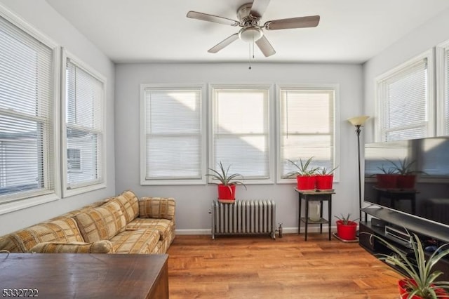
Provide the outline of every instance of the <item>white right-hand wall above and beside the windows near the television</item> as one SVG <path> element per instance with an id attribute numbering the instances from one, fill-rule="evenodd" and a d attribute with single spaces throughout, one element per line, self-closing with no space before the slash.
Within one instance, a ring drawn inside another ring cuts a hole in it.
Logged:
<path id="1" fill-rule="evenodd" d="M 448 40 L 448 28 L 449 9 L 436 15 L 435 18 L 417 27 L 406 36 L 403 36 L 402 39 L 396 41 L 396 43 L 363 65 L 365 114 L 375 115 L 375 78 L 387 72 L 389 69 L 401 65 L 401 63 L 434 48 L 437 44 Z M 370 119 L 366 128 L 366 142 L 375 141 L 374 124 L 375 119 Z"/>

